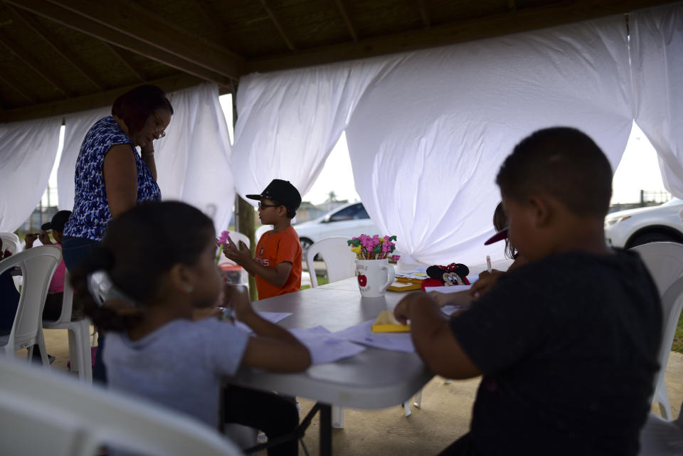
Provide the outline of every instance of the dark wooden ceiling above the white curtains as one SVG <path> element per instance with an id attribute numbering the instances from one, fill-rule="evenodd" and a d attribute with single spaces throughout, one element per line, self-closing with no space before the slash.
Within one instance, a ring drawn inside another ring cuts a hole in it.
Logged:
<path id="1" fill-rule="evenodd" d="M 0 122 L 110 105 L 142 83 L 366 58 L 670 0 L 0 0 Z"/>

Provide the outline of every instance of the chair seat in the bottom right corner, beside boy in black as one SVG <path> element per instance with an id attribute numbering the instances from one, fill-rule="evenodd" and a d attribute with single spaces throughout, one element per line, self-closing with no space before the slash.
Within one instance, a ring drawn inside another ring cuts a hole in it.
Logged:
<path id="1" fill-rule="evenodd" d="M 683 409 L 683 405 L 681 405 Z M 683 455 L 683 412 L 675 421 L 664 420 L 649 413 L 640 430 L 639 456 Z"/>

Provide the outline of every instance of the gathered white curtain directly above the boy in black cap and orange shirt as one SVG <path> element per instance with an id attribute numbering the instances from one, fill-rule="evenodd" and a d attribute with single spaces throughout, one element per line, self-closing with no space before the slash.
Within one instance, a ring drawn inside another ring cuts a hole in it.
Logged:
<path id="1" fill-rule="evenodd" d="M 238 193 L 260 193 L 272 179 L 292 182 L 302 195 L 309 191 L 359 97 L 400 59 L 375 58 L 242 78 L 233 146 Z"/>

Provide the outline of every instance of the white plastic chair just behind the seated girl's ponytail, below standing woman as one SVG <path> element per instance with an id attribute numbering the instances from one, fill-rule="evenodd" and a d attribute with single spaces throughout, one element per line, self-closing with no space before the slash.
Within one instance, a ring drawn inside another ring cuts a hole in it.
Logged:
<path id="1" fill-rule="evenodd" d="M 64 297 L 62 299 L 62 313 L 59 318 L 43 320 L 44 329 L 68 329 L 69 358 L 71 370 L 78 371 L 78 377 L 92 383 L 92 354 L 90 353 L 90 319 L 82 318 L 71 321 L 73 312 L 73 288 L 68 271 L 64 275 Z"/>

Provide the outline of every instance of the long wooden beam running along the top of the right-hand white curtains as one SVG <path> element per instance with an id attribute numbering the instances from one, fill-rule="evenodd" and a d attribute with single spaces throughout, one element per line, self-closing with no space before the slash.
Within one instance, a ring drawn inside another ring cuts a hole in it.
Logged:
<path id="1" fill-rule="evenodd" d="M 302 68 L 343 60 L 374 57 L 416 49 L 445 46 L 448 44 L 474 41 L 482 38 L 507 35 L 558 26 L 562 23 L 625 14 L 634 9 L 672 3 L 671 0 L 571 0 L 555 4 L 517 9 L 509 12 L 472 19 L 443 26 L 424 28 L 373 38 L 364 38 L 358 43 L 342 43 L 324 46 L 296 54 L 282 53 L 248 59 L 244 74 Z"/>

